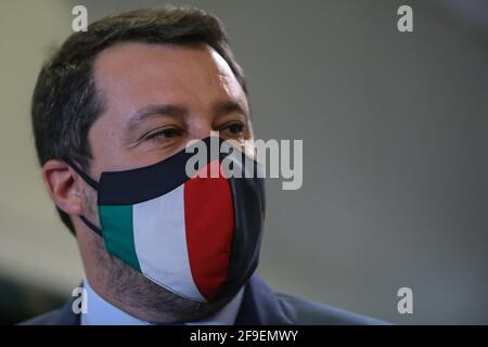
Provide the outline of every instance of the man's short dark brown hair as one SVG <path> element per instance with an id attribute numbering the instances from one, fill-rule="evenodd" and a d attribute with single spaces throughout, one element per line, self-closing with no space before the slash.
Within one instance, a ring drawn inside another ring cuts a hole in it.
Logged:
<path id="1" fill-rule="evenodd" d="M 93 62 L 108 47 L 128 41 L 207 43 L 227 61 L 247 93 L 222 24 L 205 11 L 164 7 L 104 17 L 89 25 L 87 31 L 73 34 L 39 74 L 31 121 L 41 166 L 52 158 L 70 158 L 88 170 L 92 158 L 88 131 L 104 110 L 94 83 Z M 63 223 L 74 233 L 69 216 L 56 208 Z"/>

